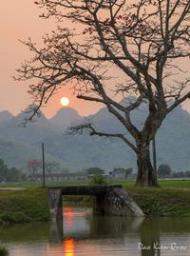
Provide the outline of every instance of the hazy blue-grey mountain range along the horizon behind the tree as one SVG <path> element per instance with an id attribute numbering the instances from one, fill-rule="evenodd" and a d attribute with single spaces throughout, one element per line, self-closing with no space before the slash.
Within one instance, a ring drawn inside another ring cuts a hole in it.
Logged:
<path id="1" fill-rule="evenodd" d="M 132 112 L 138 127 L 146 116 L 146 106 Z M 45 143 L 47 161 L 56 161 L 70 171 L 86 167 L 133 167 L 136 155 L 119 139 L 85 135 L 66 135 L 73 123 L 90 120 L 96 128 L 107 132 L 125 132 L 123 126 L 106 108 L 83 117 L 74 108 L 61 108 L 50 119 L 41 117 L 22 126 L 26 113 L 13 116 L 0 112 L 0 158 L 9 167 L 26 168 L 29 159 L 41 159 L 41 143 Z M 130 137 L 129 137 L 130 138 Z M 190 169 L 190 114 L 176 108 L 162 123 L 156 136 L 158 164 L 167 164 L 176 171 Z"/>

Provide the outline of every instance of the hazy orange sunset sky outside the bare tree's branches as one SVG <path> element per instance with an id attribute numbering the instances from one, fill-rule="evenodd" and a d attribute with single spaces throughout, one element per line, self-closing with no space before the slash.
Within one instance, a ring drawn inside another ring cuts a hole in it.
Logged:
<path id="1" fill-rule="evenodd" d="M 15 69 L 20 63 L 29 58 L 29 51 L 18 39 L 24 40 L 29 36 L 33 41 L 40 42 L 41 36 L 56 28 L 52 20 L 43 20 L 39 10 L 33 4 L 34 0 L 2 1 L 0 9 L 0 111 L 8 109 L 13 114 L 27 108 L 31 103 L 28 95 L 27 82 L 15 82 L 11 77 L 16 75 Z M 43 111 L 48 117 L 52 116 L 59 108 L 60 98 L 66 96 L 70 100 L 70 107 L 76 108 L 82 115 L 96 112 L 102 106 L 97 103 L 86 103 L 77 100 L 72 91 L 62 89 L 49 102 Z M 190 102 L 184 104 L 190 111 Z"/>

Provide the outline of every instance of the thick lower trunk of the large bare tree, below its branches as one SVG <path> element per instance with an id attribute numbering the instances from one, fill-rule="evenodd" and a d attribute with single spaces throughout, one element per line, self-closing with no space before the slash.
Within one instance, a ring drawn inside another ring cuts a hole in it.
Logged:
<path id="1" fill-rule="evenodd" d="M 149 143 L 139 144 L 137 153 L 137 187 L 158 187 L 157 172 L 150 160 Z"/>

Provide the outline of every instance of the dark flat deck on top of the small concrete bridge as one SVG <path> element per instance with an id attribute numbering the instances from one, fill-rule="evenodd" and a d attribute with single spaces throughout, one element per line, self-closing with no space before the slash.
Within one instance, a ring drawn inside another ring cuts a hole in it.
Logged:
<path id="1" fill-rule="evenodd" d="M 104 194 L 107 189 L 122 187 L 121 185 L 115 186 L 63 186 L 63 187 L 48 187 L 51 189 L 61 189 L 62 195 L 101 195 Z"/>

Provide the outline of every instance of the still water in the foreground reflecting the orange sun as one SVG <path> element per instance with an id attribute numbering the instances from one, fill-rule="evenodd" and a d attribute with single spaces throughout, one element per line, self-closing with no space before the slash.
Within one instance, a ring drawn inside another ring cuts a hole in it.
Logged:
<path id="1" fill-rule="evenodd" d="M 190 218 L 93 216 L 64 208 L 63 223 L 0 227 L 10 256 L 187 256 Z"/>

